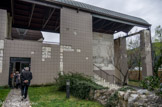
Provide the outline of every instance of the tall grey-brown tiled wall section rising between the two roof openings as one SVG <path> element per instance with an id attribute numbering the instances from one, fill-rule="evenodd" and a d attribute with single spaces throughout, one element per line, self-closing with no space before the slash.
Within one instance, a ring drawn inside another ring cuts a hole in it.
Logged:
<path id="1" fill-rule="evenodd" d="M 92 15 L 69 8 L 61 9 L 61 45 L 74 51 L 63 52 L 63 71 L 93 75 Z M 80 49 L 81 52 L 77 52 Z"/>

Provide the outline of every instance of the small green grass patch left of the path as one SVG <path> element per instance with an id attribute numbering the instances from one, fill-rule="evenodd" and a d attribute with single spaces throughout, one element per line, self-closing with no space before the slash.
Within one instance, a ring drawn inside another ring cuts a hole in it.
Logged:
<path id="1" fill-rule="evenodd" d="M 0 107 L 2 106 L 2 103 L 5 101 L 9 92 L 9 88 L 0 87 Z"/>

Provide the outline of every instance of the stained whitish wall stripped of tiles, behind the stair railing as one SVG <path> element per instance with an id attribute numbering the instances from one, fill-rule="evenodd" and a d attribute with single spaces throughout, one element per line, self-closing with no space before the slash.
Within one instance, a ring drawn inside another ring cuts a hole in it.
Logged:
<path id="1" fill-rule="evenodd" d="M 93 63 L 107 72 L 114 75 L 114 39 L 112 34 L 104 34 L 93 32 Z M 106 74 L 101 74 L 97 67 L 93 70 L 102 78 L 112 82 L 113 77 Z"/>

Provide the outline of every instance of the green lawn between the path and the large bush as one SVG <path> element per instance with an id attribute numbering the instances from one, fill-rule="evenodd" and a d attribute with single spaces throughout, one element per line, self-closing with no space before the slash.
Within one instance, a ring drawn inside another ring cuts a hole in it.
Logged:
<path id="1" fill-rule="evenodd" d="M 32 107 L 103 107 L 95 101 L 81 100 L 73 96 L 70 96 L 70 99 L 65 97 L 65 92 L 58 91 L 55 85 L 29 88 Z"/>

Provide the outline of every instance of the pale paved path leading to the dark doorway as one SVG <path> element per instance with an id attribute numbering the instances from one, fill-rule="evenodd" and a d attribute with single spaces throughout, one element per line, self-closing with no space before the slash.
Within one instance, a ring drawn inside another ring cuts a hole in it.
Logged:
<path id="1" fill-rule="evenodd" d="M 31 107 L 29 97 L 21 101 L 20 89 L 12 89 L 2 107 Z"/>

